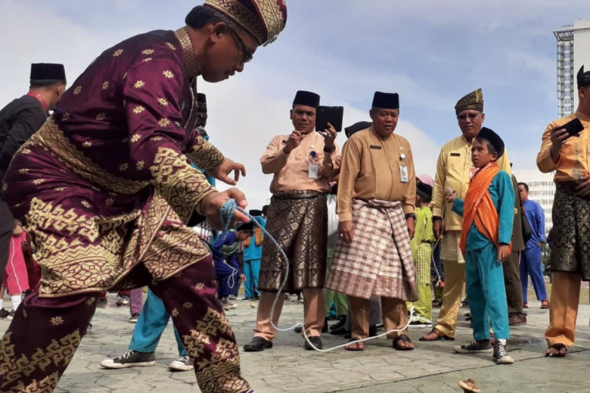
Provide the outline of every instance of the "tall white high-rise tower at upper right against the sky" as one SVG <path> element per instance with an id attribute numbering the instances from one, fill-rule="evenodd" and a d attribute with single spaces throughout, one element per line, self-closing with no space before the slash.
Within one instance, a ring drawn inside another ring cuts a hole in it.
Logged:
<path id="1" fill-rule="evenodd" d="M 579 19 L 573 25 L 553 31 L 557 39 L 557 98 L 559 117 L 575 112 L 578 107 L 576 74 L 582 65 L 590 69 L 590 19 Z"/>

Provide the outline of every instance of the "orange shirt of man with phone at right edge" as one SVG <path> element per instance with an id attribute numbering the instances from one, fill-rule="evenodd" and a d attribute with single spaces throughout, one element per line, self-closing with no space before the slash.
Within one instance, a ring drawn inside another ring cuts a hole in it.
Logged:
<path id="1" fill-rule="evenodd" d="M 572 121 L 578 117 L 584 125 L 584 131 L 579 137 L 570 137 L 563 142 L 560 151 L 559 160 L 553 162 L 550 156 L 551 140 L 550 134 L 553 127 L 563 126 L 563 124 Z M 580 180 L 582 177 L 590 175 L 590 116 L 576 111 L 575 114 L 554 120 L 543 132 L 543 141 L 541 150 L 537 154 L 537 167 L 543 173 L 555 171 L 553 181 Z"/>

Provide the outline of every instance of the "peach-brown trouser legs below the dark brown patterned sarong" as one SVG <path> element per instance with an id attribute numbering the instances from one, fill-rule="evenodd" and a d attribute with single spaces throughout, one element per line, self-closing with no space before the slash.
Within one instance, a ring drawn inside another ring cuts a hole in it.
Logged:
<path id="1" fill-rule="evenodd" d="M 276 292 L 268 292 L 266 290 L 260 292 L 254 337 L 262 337 L 268 341 L 273 341 L 277 335 L 276 329 L 270 324 L 270 309 L 273 306 L 276 296 Z M 281 311 L 283 311 L 284 301 L 284 293 L 281 293 L 278 296 L 277 305 L 274 308 L 274 326 L 278 326 L 278 318 L 281 316 Z M 305 331 L 308 336 L 319 336 L 322 333 L 324 318 L 326 318 L 324 292 L 322 288 L 303 289 L 303 318 Z"/>

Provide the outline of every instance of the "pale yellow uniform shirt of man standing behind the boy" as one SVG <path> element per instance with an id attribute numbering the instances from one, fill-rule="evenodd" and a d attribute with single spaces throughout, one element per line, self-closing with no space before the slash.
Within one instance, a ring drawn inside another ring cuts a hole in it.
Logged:
<path id="1" fill-rule="evenodd" d="M 498 167 L 500 170 L 512 174 L 507 150 L 504 150 L 504 154 L 498 160 Z M 434 177 L 434 188 L 432 189 L 432 214 L 442 217 L 442 210 L 445 209 L 445 230 L 461 230 L 463 223 L 463 218 L 451 212 L 451 204 L 445 206 L 445 188 L 450 187 L 457 191 L 457 196 L 465 200 L 469 181 L 476 170 L 471 162 L 471 143 L 468 143 L 463 135 L 451 139 L 442 146 L 438 155 L 437 174 Z"/>

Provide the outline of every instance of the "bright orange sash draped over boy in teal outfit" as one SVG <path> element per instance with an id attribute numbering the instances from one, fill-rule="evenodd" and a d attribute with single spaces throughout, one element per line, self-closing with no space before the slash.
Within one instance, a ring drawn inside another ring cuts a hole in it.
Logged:
<path id="1" fill-rule="evenodd" d="M 498 212 L 490 196 L 490 183 L 500 171 L 498 164 L 487 164 L 478 170 L 469 183 L 469 189 L 463 204 L 463 227 L 461 228 L 461 241 L 459 247 L 463 256 L 466 254 L 467 233 L 473 222 L 477 230 L 490 242 L 498 246 L 498 228 L 500 226 Z M 512 245 L 510 251 L 512 252 Z"/>

